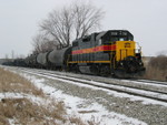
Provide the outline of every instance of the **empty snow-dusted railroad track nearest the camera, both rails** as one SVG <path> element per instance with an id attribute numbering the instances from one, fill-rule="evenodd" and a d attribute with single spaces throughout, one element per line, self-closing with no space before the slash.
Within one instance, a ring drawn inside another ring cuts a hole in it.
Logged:
<path id="1" fill-rule="evenodd" d="M 22 71 L 30 73 L 30 74 L 57 79 L 58 81 L 66 81 L 69 83 L 75 82 L 76 84 L 90 85 L 90 86 L 95 86 L 99 88 L 116 91 L 119 93 L 126 93 L 129 95 L 135 95 L 139 97 L 145 97 L 145 98 L 150 98 L 150 100 L 167 103 L 167 92 L 160 92 L 160 91 L 148 90 L 148 88 L 138 88 L 135 86 L 121 85 L 121 84 L 115 84 L 115 83 L 108 83 L 108 82 L 90 81 L 87 79 L 77 79 L 75 76 L 62 76 L 53 72 L 47 72 L 47 71 L 41 71 L 41 70 L 36 70 L 36 71 L 22 70 Z"/>

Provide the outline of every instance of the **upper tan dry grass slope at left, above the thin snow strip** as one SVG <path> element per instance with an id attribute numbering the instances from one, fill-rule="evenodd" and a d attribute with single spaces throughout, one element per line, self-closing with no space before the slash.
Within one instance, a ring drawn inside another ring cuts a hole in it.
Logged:
<path id="1" fill-rule="evenodd" d="M 28 93 L 43 96 L 41 90 L 38 90 L 31 82 L 12 72 L 0 69 L 0 92 Z"/>

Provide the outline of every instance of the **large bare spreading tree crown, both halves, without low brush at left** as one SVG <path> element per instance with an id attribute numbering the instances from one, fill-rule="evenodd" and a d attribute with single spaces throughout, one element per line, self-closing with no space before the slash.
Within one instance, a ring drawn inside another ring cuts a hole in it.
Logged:
<path id="1" fill-rule="evenodd" d="M 61 11 L 53 10 L 40 28 L 55 43 L 68 46 L 71 40 L 99 28 L 102 15 L 104 12 L 90 3 L 77 2 Z"/>

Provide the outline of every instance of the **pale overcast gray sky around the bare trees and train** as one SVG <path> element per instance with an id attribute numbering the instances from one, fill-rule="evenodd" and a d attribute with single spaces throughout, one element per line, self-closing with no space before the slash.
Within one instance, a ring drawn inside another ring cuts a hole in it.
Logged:
<path id="1" fill-rule="evenodd" d="M 73 0 L 0 0 L 0 58 L 27 55 L 39 22 Z M 167 0 L 84 0 L 106 12 L 101 30 L 129 30 L 144 55 L 167 52 Z"/>

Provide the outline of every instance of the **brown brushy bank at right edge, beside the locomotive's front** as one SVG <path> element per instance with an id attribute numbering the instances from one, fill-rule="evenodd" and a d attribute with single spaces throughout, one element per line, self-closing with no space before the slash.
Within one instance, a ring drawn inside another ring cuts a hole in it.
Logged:
<path id="1" fill-rule="evenodd" d="M 151 58 L 146 64 L 146 75 L 145 79 L 167 81 L 167 56 L 158 55 Z"/>

